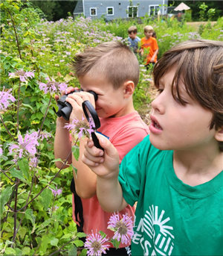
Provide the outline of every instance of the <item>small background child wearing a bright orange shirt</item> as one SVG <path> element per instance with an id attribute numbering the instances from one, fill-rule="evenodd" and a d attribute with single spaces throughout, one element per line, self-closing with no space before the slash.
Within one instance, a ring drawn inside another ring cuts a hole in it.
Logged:
<path id="1" fill-rule="evenodd" d="M 152 63 L 154 65 L 157 62 L 157 54 L 158 54 L 158 43 L 155 37 L 152 37 L 153 28 L 150 25 L 147 25 L 144 28 L 144 35 L 140 41 L 141 48 L 140 54 L 143 56 L 144 49 L 149 49 L 149 54 L 146 56 L 145 59 L 145 66 L 146 69 L 149 69 L 149 64 Z"/>

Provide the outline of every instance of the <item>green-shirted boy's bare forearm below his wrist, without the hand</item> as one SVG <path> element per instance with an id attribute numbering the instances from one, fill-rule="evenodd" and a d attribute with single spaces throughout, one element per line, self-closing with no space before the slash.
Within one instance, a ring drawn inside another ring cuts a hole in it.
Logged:
<path id="1" fill-rule="evenodd" d="M 97 199 L 103 210 L 110 213 L 123 210 L 128 205 L 117 177 L 105 179 L 97 176 Z"/>

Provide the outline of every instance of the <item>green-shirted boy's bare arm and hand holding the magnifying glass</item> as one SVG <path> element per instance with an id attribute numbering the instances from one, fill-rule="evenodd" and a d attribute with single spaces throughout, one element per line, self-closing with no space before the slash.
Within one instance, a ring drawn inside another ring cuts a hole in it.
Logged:
<path id="1" fill-rule="evenodd" d="M 119 156 L 109 140 L 98 134 L 101 149 L 94 146 L 92 140 L 85 142 L 83 163 L 97 175 L 97 199 L 103 210 L 108 212 L 123 210 L 128 204 L 123 199 L 123 190 L 118 181 Z"/>

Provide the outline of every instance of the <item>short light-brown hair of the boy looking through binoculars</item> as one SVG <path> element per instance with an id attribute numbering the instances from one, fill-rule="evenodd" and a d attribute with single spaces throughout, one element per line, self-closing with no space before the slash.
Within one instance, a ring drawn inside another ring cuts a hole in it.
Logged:
<path id="1" fill-rule="evenodd" d="M 77 78 L 87 74 L 92 75 L 92 78 L 102 75 L 113 85 L 114 90 L 126 81 L 133 81 L 136 87 L 139 81 L 137 57 L 129 46 L 117 41 L 86 48 L 74 56 L 71 68 Z"/>

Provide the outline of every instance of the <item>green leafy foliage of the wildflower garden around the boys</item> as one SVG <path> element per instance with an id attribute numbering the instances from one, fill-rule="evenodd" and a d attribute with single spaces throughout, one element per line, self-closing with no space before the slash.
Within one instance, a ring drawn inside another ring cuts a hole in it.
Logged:
<path id="1" fill-rule="evenodd" d="M 138 36 L 143 27 L 152 25 L 158 36 L 159 54 L 164 54 L 175 43 L 190 38 L 223 40 L 223 18 L 216 25 L 202 25 L 199 34 L 185 21 L 177 19 L 104 20 L 71 17 L 58 22 L 42 19 L 39 9 L 28 1 L 5 0 L 0 3 L 0 90 L 12 89 L 16 102 L 7 110 L 0 110 L 0 252 L 1 255 L 76 255 L 85 234 L 77 233 L 72 220 L 71 192 L 69 190 L 74 166 L 59 170 L 54 160 L 56 116 L 55 93 L 45 94 L 39 83 L 54 78 L 59 83 L 78 87 L 69 63 L 77 52 L 87 46 L 96 46 L 110 40 L 126 42 L 128 28 L 137 25 Z M 134 93 L 135 109 L 147 110 L 153 95 L 152 66 L 149 70 L 138 55 L 140 80 Z M 21 81 L 11 72 L 34 72 L 34 77 Z M 36 157 L 39 162 L 30 166 L 30 157 L 20 157 L 15 163 L 10 154 L 10 143 L 26 132 L 45 131 L 51 138 L 39 141 Z M 76 147 L 74 157 L 79 157 Z M 58 159 L 57 159 L 58 160 Z M 77 169 L 74 169 L 77 172 Z M 62 194 L 52 190 L 62 188 Z M 58 207 L 58 208 L 57 208 Z M 81 255 L 85 255 L 85 251 Z"/>

